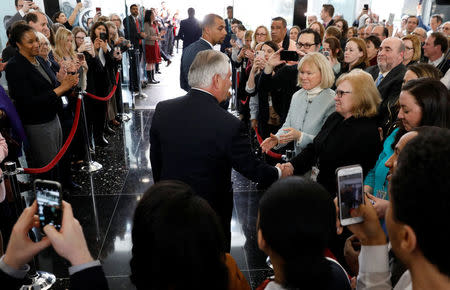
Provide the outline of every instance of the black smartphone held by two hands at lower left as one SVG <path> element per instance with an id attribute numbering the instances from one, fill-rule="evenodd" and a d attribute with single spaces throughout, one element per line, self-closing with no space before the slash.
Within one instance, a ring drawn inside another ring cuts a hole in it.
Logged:
<path id="1" fill-rule="evenodd" d="M 41 232 L 43 233 L 42 229 L 46 225 L 52 225 L 60 230 L 62 220 L 61 184 L 56 181 L 36 179 L 33 187 L 38 204 Z"/>

